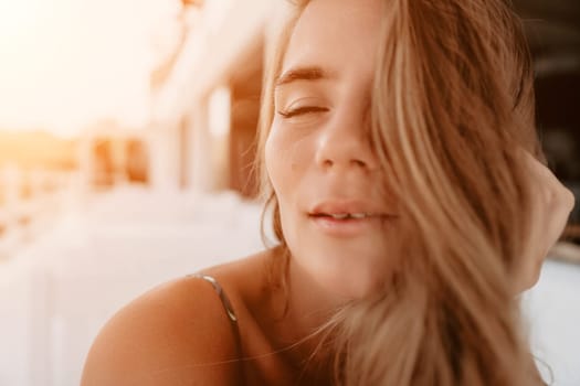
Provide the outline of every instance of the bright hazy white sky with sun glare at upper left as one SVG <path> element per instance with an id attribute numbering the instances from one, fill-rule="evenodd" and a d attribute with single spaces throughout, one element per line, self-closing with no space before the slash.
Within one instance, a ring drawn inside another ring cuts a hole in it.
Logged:
<path id="1" fill-rule="evenodd" d="M 149 119 L 156 29 L 178 0 L 0 0 L 0 130 Z"/>

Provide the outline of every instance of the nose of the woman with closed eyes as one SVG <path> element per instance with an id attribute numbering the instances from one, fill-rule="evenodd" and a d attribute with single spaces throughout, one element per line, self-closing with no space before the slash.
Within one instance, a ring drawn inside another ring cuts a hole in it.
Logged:
<path id="1" fill-rule="evenodd" d="M 323 169 L 375 170 L 368 120 L 335 116 L 317 138 L 316 163 Z"/>

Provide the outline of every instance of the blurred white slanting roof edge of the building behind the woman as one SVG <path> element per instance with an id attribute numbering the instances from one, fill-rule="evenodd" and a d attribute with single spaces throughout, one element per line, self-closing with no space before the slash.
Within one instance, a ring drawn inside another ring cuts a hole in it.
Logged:
<path id="1" fill-rule="evenodd" d="M 265 21 L 275 2 L 221 1 L 205 3 L 200 23 L 188 34 L 170 74 L 155 90 L 154 121 L 188 114 L 194 100 L 226 84 L 232 72 L 239 69 L 233 68 L 238 61 L 263 44 Z"/>

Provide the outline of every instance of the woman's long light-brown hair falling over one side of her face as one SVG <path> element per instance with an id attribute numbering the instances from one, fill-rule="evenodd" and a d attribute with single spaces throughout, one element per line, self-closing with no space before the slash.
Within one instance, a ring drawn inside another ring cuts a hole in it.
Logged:
<path id="1" fill-rule="evenodd" d="M 267 64 L 262 165 L 274 82 L 307 3 L 295 2 Z M 513 288 L 529 221 L 517 149 L 542 159 L 520 21 L 503 0 L 382 4 L 369 136 L 399 205 L 392 272 L 320 329 L 320 350 L 340 385 L 542 384 Z M 291 257 L 262 175 L 285 286 Z"/>

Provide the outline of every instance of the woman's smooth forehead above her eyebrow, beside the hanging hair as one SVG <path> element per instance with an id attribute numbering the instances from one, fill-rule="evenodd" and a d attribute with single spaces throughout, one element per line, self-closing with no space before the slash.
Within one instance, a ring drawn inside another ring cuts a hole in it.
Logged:
<path id="1" fill-rule="evenodd" d="M 312 0 L 298 19 L 283 72 L 317 65 L 341 74 L 373 72 L 380 0 Z"/>

